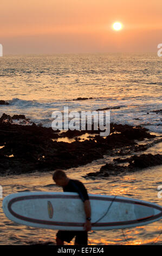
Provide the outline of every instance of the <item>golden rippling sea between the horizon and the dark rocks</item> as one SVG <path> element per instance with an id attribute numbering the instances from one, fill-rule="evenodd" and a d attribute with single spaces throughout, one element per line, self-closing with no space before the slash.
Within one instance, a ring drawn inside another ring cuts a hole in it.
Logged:
<path id="1" fill-rule="evenodd" d="M 114 123 L 161 132 L 162 58 L 148 54 L 56 54 L 0 58 L 0 115 L 25 114 L 50 127 L 51 114 L 111 109 Z M 77 97 L 92 97 L 73 101 Z M 147 114 L 149 113 L 149 114 Z"/>

